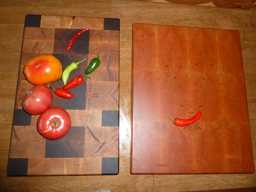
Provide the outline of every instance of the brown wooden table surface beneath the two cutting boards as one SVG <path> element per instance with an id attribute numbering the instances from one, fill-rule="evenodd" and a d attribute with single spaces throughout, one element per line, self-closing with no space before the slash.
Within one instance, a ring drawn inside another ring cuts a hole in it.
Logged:
<path id="1" fill-rule="evenodd" d="M 251 139 L 256 162 L 256 9 L 223 9 L 147 1 L 1 1 L 1 191 L 188 191 L 256 186 L 254 174 L 132 175 L 132 24 L 147 23 L 239 30 Z M 12 120 L 26 14 L 120 19 L 120 159 L 118 175 L 7 177 Z M 65 184 L 64 184 L 65 183 Z M 4 190 L 3 190 L 4 189 Z"/>

